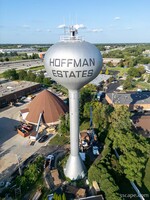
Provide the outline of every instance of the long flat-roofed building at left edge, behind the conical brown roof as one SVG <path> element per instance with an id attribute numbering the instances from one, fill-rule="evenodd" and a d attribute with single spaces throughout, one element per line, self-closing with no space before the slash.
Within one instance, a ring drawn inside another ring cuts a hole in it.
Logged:
<path id="1" fill-rule="evenodd" d="M 41 84 L 27 81 L 7 81 L 0 84 L 0 108 L 17 102 L 21 97 L 41 90 Z"/>

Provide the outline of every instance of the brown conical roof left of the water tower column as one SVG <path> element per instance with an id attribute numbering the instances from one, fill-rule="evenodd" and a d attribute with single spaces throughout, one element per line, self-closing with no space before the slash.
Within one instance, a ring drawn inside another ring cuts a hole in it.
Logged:
<path id="1" fill-rule="evenodd" d="M 37 124 L 39 115 L 46 124 L 55 123 L 60 115 L 68 112 L 68 106 L 58 96 L 48 90 L 40 92 L 28 105 L 29 113 L 26 120 Z"/>

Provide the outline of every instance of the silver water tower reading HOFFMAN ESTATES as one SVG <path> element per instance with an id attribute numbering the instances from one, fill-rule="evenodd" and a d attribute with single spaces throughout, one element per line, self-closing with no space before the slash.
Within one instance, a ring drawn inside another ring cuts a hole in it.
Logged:
<path id="1" fill-rule="evenodd" d="M 101 53 L 71 27 L 69 36 L 48 49 L 44 65 L 51 78 L 69 90 L 70 156 L 64 173 L 71 180 L 80 179 L 86 170 L 79 155 L 79 89 L 99 74 Z"/>

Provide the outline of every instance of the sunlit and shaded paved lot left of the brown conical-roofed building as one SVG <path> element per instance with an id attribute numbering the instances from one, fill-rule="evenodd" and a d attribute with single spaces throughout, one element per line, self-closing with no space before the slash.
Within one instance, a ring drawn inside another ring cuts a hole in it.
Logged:
<path id="1" fill-rule="evenodd" d="M 20 163 L 23 162 L 48 142 L 36 142 L 31 146 L 29 137 L 23 138 L 14 129 L 14 126 L 20 124 L 19 110 L 26 105 L 0 112 L 0 180 L 9 177 L 17 167 L 18 160 Z"/>

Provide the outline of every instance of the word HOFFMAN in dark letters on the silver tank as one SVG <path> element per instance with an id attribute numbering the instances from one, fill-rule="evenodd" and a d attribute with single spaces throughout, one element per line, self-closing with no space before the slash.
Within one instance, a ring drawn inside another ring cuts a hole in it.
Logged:
<path id="1" fill-rule="evenodd" d="M 91 67 L 95 66 L 95 59 L 89 58 L 89 59 L 59 59 L 59 58 L 53 58 L 50 59 L 49 62 L 51 67 Z"/>

